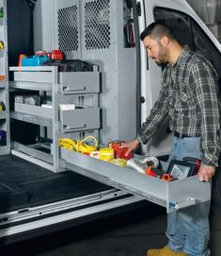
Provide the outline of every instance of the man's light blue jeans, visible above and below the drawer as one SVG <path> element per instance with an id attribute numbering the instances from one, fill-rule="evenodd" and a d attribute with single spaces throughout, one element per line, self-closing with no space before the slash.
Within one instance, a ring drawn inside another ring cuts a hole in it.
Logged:
<path id="1" fill-rule="evenodd" d="M 184 157 L 201 159 L 200 138 L 174 137 L 169 160 Z M 207 244 L 210 238 L 210 201 L 167 214 L 166 236 L 168 247 L 191 256 L 210 256 Z"/>

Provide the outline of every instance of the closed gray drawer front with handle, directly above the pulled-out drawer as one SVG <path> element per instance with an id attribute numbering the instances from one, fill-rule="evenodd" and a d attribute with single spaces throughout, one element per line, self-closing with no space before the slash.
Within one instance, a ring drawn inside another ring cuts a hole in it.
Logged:
<path id="1" fill-rule="evenodd" d="M 100 108 L 60 111 L 62 132 L 100 128 Z"/>

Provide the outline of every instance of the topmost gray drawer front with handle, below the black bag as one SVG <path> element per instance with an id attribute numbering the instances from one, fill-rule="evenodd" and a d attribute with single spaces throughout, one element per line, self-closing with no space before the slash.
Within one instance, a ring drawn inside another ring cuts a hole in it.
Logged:
<path id="1" fill-rule="evenodd" d="M 99 93 L 100 76 L 100 72 L 60 72 L 61 94 Z"/>

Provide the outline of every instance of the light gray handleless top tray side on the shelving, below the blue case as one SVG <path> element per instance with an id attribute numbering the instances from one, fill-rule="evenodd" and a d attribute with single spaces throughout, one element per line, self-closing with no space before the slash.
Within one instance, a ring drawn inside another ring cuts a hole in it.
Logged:
<path id="1" fill-rule="evenodd" d="M 52 83 L 52 72 L 14 72 L 15 81 Z"/>

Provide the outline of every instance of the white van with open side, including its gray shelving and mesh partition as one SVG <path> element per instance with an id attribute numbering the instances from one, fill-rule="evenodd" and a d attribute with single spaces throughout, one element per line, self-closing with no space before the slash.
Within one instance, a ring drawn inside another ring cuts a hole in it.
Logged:
<path id="1" fill-rule="evenodd" d="M 58 145 L 60 138 L 83 140 L 94 136 L 100 145 L 108 145 L 136 136 L 160 90 L 162 70 L 148 60 L 139 41 L 140 32 L 154 21 L 170 26 L 183 45 L 211 60 L 221 86 L 221 45 L 188 3 L 31 2 L 35 52 L 60 49 L 67 60 L 87 61 L 92 70 L 62 72 L 57 66 L 12 66 L 8 71 L 5 55 L 6 88 L 2 97 L 7 106 L 6 124 L 2 126 L 8 137 L 0 170 L 3 243 L 31 232 L 50 231 L 49 226 L 55 229 L 73 221 L 80 223 L 146 201 L 171 212 L 209 200 L 210 183 L 198 182 L 197 177 L 166 182 Z M 6 5 L 8 12 L 12 7 L 4 0 L 1 4 L 5 9 L 1 26 L 6 31 Z M 4 35 L 7 38 L 6 32 Z M 24 104 L 24 95 L 35 95 L 51 107 Z M 76 109 L 59 110 L 66 103 Z M 36 143 L 27 142 L 35 133 L 33 126 L 40 138 Z M 171 134 L 166 130 L 165 122 L 137 157 L 164 160 L 171 145 Z"/>

